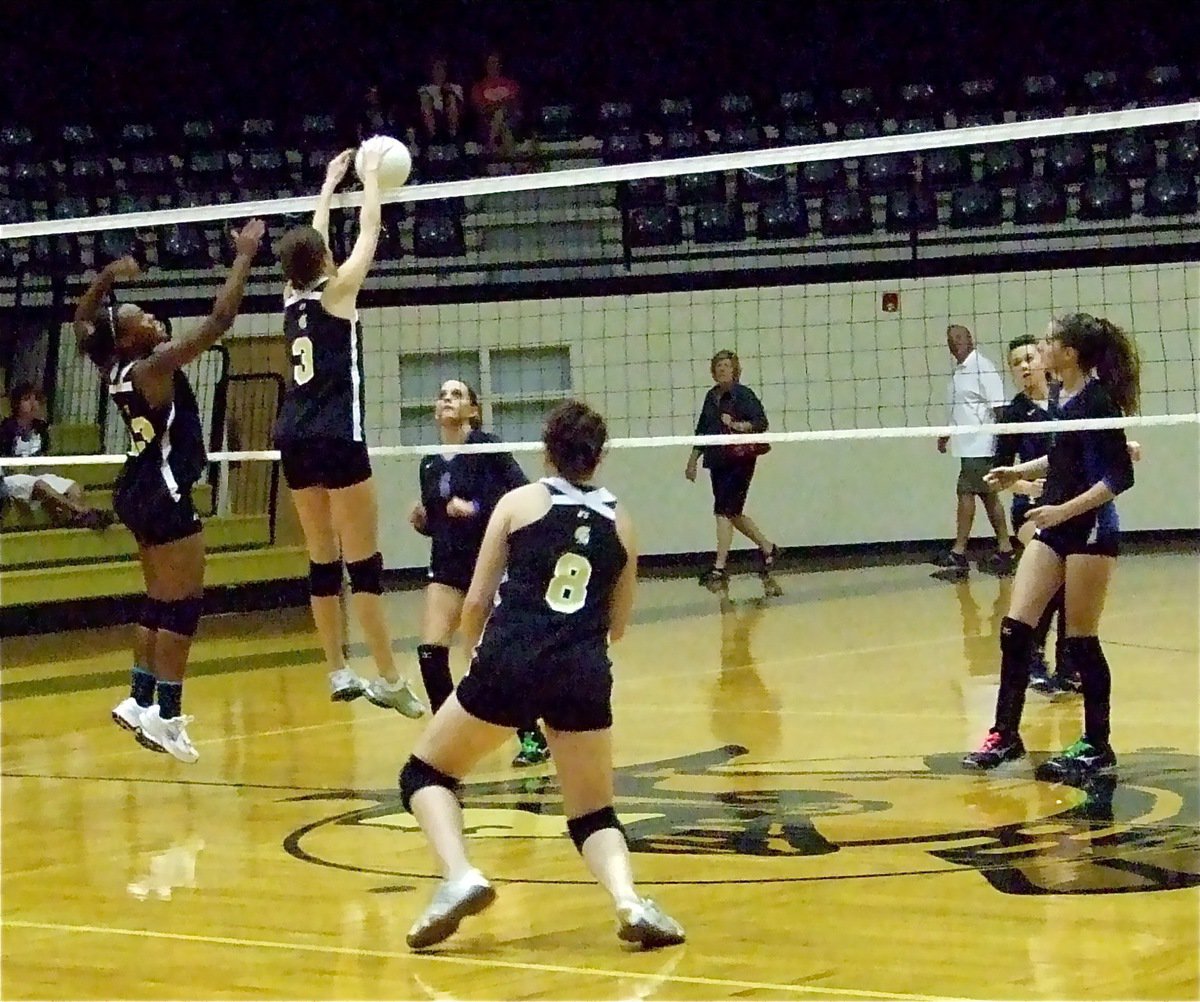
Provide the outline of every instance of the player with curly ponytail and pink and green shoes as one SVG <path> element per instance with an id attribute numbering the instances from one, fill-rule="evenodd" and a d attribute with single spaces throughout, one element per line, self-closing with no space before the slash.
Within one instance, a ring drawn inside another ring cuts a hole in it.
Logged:
<path id="1" fill-rule="evenodd" d="M 1138 412 L 1139 358 L 1132 338 L 1109 320 L 1074 313 L 1055 324 L 1050 362 L 1061 379 L 1057 419 L 1118 418 Z M 1120 522 L 1115 499 L 1133 486 L 1133 462 L 1121 430 L 1055 432 L 1049 456 L 998 467 L 989 484 L 1004 488 L 1045 476 L 1026 520 L 1036 527 L 1021 553 L 1009 612 L 1001 624 L 996 720 L 978 751 L 962 763 L 992 769 L 1020 758 L 1019 733 L 1034 628 L 1055 593 L 1064 589 L 1066 650 L 1084 692 L 1084 734 L 1036 770 L 1038 779 L 1082 781 L 1111 772 L 1111 676 L 1097 630 L 1116 568 Z"/>

